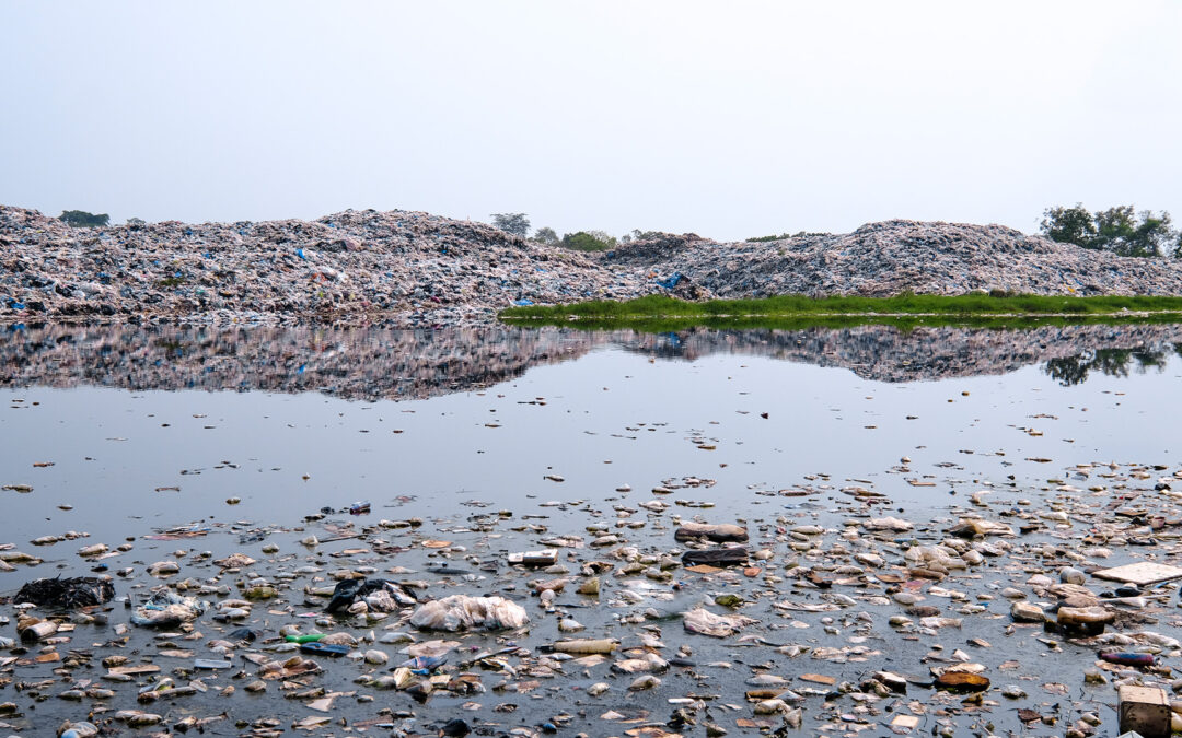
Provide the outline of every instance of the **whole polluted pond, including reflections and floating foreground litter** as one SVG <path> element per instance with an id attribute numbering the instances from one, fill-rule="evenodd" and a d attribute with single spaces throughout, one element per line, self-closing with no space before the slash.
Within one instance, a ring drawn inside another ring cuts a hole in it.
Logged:
<path id="1" fill-rule="evenodd" d="M 1180 333 L 9 331 L 0 734 L 1169 734 Z"/>

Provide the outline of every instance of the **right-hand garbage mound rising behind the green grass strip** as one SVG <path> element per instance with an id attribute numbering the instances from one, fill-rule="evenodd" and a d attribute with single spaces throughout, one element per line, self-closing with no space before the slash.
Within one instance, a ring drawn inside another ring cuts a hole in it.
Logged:
<path id="1" fill-rule="evenodd" d="M 884 221 L 850 234 L 771 242 L 694 243 L 661 264 L 720 298 L 779 294 L 890 296 L 1008 290 L 1028 294 L 1182 294 L 1182 266 L 1116 256 L 1004 226 Z"/>

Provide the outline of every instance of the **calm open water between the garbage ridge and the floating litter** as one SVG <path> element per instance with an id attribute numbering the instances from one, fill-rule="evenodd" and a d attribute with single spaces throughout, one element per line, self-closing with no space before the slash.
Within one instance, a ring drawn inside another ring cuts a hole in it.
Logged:
<path id="1" fill-rule="evenodd" d="M 727 515 L 759 502 L 748 490 L 823 484 L 816 475 L 833 486 L 869 482 L 901 503 L 944 504 L 949 492 L 1011 475 L 1038 484 L 1077 462 L 1182 456 L 1171 432 L 1178 358 L 1161 352 L 1174 335 L 1154 335 L 1143 350 L 1158 365 L 1131 359 L 1128 375 L 1093 370 L 1077 385 L 1035 355 L 985 364 L 974 355 L 985 353 L 980 337 L 963 341 L 978 346 L 963 352 L 963 372 L 941 355 L 947 337 L 928 347 L 892 341 L 921 379 L 877 381 L 858 372 L 896 379 L 903 359 L 877 366 L 864 347 L 886 341 L 857 332 L 812 337 L 811 355 L 794 339 L 751 334 L 254 329 L 233 340 L 206 332 L 202 342 L 165 331 L 136 344 L 102 331 L 66 335 L 45 339 L 54 346 L 46 353 L 21 351 L 35 334 L 6 345 L 5 365 L 28 386 L 5 391 L 0 478 L 35 494 L 6 494 L 14 515 L 0 522 L 0 540 L 26 536 L 30 521 L 38 535 L 85 520 L 96 537 L 122 537 L 129 520 L 173 525 L 232 514 L 294 524 L 358 499 L 426 515 L 441 499 L 603 499 L 621 484 L 644 492 L 687 476 L 714 479 L 712 496 L 736 508 Z M 883 335 L 900 340 L 891 328 L 871 332 Z M 415 353 L 385 355 L 385 346 Z M 1071 347 L 1078 353 L 1054 346 L 1050 360 L 1097 351 L 1083 340 Z M 930 379 L 941 371 L 950 375 Z M 976 373 L 994 371 L 1006 373 Z M 122 386 L 132 390 L 113 388 Z M 375 399 L 391 396 L 435 397 Z M 913 472 L 894 474 L 904 456 Z M 1025 461 L 1035 457 L 1054 461 Z M 45 462 L 53 466 L 33 468 Z M 566 482 L 546 481 L 551 474 Z M 904 482 L 924 475 L 939 486 Z M 228 510 L 229 497 L 241 505 Z"/>

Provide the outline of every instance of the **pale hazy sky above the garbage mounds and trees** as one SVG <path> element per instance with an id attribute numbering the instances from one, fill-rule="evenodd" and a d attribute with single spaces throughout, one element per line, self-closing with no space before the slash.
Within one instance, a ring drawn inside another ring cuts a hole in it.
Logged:
<path id="1" fill-rule="evenodd" d="M 0 0 L 0 202 L 740 239 L 1182 218 L 1182 2 Z"/>

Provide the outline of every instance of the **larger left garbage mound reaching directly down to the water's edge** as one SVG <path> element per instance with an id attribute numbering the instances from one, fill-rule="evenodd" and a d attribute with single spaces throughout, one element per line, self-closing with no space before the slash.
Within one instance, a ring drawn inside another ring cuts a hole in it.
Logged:
<path id="1" fill-rule="evenodd" d="M 631 298 L 586 256 L 426 213 L 74 229 L 0 207 L 0 301 L 19 316 L 405 325 L 491 321 L 514 301 Z"/>

